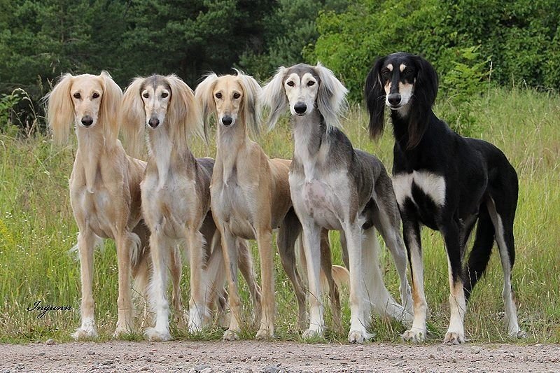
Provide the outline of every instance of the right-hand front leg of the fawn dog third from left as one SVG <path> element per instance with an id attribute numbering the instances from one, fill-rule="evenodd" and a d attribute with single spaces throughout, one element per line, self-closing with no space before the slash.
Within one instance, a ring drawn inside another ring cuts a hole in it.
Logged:
<path id="1" fill-rule="evenodd" d="M 272 251 L 272 231 L 257 230 L 257 244 L 260 255 L 260 281 L 262 281 L 262 316 L 260 328 L 255 338 L 274 337 L 274 252 Z"/>

